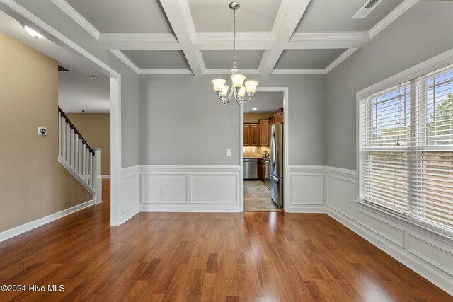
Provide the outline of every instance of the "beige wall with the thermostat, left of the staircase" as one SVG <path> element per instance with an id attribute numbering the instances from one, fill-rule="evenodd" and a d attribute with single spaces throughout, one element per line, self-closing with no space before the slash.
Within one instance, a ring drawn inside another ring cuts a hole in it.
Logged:
<path id="1" fill-rule="evenodd" d="M 0 33 L 0 231 L 92 199 L 57 161 L 57 70 Z"/>

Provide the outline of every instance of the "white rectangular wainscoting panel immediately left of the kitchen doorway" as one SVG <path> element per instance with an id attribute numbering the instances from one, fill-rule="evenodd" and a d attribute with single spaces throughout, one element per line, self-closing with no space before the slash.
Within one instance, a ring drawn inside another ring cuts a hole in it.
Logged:
<path id="1" fill-rule="evenodd" d="M 191 204 L 239 204 L 239 173 L 190 174 Z"/>

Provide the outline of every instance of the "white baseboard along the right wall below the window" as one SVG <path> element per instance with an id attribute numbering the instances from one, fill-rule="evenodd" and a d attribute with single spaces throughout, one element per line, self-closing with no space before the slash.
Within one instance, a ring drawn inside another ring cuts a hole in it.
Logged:
<path id="1" fill-rule="evenodd" d="M 379 250 L 386 252 L 386 254 L 398 260 L 409 269 L 412 269 L 417 274 L 420 274 L 420 276 L 432 282 L 432 284 L 435 284 L 440 289 L 447 292 L 447 294 L 453 296 L 452 282 L 446 279 L 444 276 L 440 275 L 439 272 L 436 272 L 428 265 L 425 265 L 425 263 L 421 262 L 416 257 L 412 257 L 407 252 L 405 252 L 405 250 L 398 249 L 394 245 L 385 242 L 382 238 L 379 238 L 379 235 L 374 234 L 372 231 L 368 231 L 365 227 L 361 226 L 356 221 L 353 221 L 349 217 L 341 214 L 331 207 L 327 207 L 326 214 L 328 214 L 328 216 L 331 216 L 339 223 L 343 224 L 343 226 L 349 228 L 358 236 L 367 240 L 369 243 L 372 243 L 372 245 L 379 248 Z"/>

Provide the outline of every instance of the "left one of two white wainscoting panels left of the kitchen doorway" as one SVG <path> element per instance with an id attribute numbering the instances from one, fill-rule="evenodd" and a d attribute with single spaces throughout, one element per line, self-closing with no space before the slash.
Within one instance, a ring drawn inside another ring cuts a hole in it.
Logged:
<path id="1" fill-rule="evenodd" d="M 142 173 L 142 203 L 187 204 L 188 175 Z"/>

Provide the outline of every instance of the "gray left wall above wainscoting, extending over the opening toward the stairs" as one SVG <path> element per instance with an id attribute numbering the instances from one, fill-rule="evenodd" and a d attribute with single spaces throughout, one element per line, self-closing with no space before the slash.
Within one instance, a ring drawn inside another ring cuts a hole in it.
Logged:
<path id="1" fill-rule="evenodd" d="M 139 162 L 138 139 L 139 139 L 139 124 L 138 124 L 138 105 L 139 105 L 139 88 L 138 75 L 124 64 L 114 54 L 108 50 L 103 50 L 98 45 L 98 41 L 89 33 L 81 28 L 79 24 L 73 21 L 62 10 L 60 10 L 50 0 L 18 0 L 16 1 L 21 6 L 25 7 L 38 16 L 42 21 L 56 28 L 60 33 L 69 37 L 80 47 L 87 52 L 100 59 L 102 62 L 110 66 L 112 69 L 121 74 L 121 143 L 122 143 L 122 167 L 137 165 Z M 11 11 L 4 4 L 0 4 L 0 9 L 16 18 L 18 21 L 28 23 L 22 16 Z M 44 33 L 44 31 L 42 30 Z M 57 45 L 62 45 L 51 35 L 46 35 L 52 42 Z M 66 47 L 67 48 L 67 47 Z M 68 49 L 71 52 L 74 50 Z"/>

